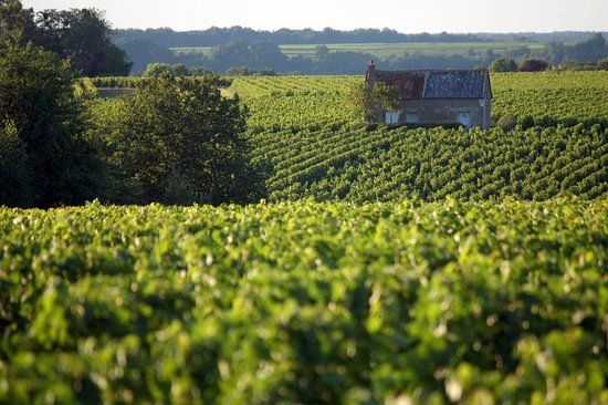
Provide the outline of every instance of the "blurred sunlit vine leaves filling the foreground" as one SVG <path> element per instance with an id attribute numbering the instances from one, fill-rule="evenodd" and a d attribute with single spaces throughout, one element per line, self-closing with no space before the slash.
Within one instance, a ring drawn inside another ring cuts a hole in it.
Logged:
<path id="1" fill-rule="evenodd" d="M 607 212 L 0 209 L 0 402 L 605 404 Z"/>

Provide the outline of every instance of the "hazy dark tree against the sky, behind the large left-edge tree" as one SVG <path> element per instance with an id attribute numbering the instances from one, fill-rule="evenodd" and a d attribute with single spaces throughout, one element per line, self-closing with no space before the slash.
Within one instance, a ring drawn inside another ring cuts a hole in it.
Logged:
<path id="1" fill-rule="evenodd" d="M 111 40 L 111 27 L 95 9 L 44 10 L 36 14 L 44 48 L 70 59 L 84 76 L 127 75 L 126 53 Z"/>

